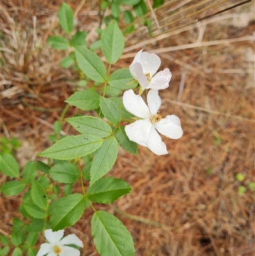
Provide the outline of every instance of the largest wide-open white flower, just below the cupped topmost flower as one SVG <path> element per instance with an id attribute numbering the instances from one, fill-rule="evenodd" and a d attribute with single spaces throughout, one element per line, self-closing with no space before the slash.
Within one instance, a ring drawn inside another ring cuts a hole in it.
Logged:
<path id="1" fill-rule="evenodd" d="M 149 149 L 155 154 L 167 154 L 166 144 L 162 142 L 159 133 L 170 139 L 182 137 L 180 119 L 171 115 L 162 118 L 157 114 L 161 105 L 161 98 L 157 90 L 150 90 L 147 95 L 149 107 L 142 96 L 136 95 L 132 89 L 123 94 L 123 104 L 131 114 L 142 119 L 125 126 L 125 131 L 130 140 Z M 156 131 L 157 130 L 157 131 Z M 159 132 L 159 133 L 157 133 Z"/>

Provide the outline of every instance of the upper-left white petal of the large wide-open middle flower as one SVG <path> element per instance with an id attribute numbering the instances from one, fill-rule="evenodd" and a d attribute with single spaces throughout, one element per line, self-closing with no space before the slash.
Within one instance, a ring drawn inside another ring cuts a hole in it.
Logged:
<path id="1" fill-rule="evenodd" d="M 149 107 L 145 104 L 141 95 L 136 95 L 132 89 L 123 94 L 123 105 L 128 112 L 146 119 L 150 118 Z"/>

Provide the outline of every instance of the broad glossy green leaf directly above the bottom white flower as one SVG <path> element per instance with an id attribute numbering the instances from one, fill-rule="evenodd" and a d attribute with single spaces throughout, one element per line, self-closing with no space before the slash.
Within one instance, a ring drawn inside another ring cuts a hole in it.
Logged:
<path id="1" fill-rule="evenodd" d="M 74 193 L 55 201 L 54 208 L 50 212 L 50 224 L 52 230 L 65 229 L 75 224 L 86 206 L 86 199 L 80 193 Z"/>

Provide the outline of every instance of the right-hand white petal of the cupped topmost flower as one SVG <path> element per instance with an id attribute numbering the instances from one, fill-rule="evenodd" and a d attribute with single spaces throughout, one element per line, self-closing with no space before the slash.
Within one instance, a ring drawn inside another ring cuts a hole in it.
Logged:
<path id="1" fill-rule="evenodd" d="M 149 83 L 149 88 L 151 89 L 165 89 L 169 86 L 171 79 L 171 72 L 169 68 L 165 68 L 163 71 L 160 71 L 152 77 L 152 80 Z"/>

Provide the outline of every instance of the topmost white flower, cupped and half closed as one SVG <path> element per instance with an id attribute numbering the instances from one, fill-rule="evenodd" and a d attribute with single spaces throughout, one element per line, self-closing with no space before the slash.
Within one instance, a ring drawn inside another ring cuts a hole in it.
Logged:
<path id="1" fill-rule="evenodd" d="M 140 50 L 131 65 L 129 71 L 134 79 L 138 80 L 142 89 L 165 89 L 169 86 L 171 79 L 171 72 L 169 68 L 154 75 L 161 64 L 159 56 L 156 54 L 149 54 Z M 154 77 L 153 77 L 154 75 Z"/>

